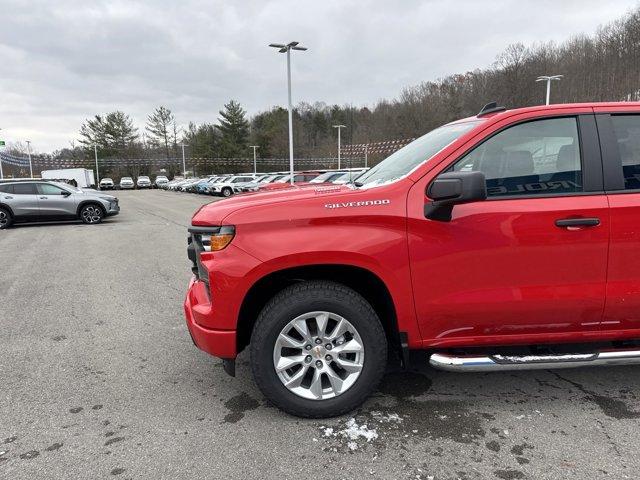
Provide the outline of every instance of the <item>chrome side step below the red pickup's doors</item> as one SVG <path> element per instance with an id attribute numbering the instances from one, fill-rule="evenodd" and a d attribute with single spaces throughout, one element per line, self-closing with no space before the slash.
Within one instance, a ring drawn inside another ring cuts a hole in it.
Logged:
<path id="1" fill-rule="evenodd" d="M 611 350 L 596 353 L 528 356 L 454 356 L 434 353 L 429 364 L 449 372 L 494 372 L 506 370 L 543 370 L 553 368 L 638 365 L 640 350 Z"/>

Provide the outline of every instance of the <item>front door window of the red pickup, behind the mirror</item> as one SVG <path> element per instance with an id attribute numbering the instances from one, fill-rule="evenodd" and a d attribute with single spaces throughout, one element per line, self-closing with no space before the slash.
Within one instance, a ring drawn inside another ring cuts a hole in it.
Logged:
<path id="1" fill-rule="evenodd" d="M 479 171 L 489 197 L 582 191 L 577 120 L 550 118 L 509 127 L 449 170 Z"/>

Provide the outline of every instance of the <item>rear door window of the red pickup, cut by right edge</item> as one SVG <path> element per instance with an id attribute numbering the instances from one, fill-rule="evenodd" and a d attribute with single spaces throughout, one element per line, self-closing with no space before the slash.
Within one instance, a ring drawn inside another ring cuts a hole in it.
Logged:
<path id="1" fill-rule="evenodd" d="M 612 115 L 625 190 L 640 190 L 640 115 Z"/>

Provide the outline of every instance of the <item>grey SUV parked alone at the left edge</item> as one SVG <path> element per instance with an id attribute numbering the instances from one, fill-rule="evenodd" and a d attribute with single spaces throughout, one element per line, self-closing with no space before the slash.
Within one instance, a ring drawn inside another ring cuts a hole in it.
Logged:
<path id="1" fill-rule="evenodd" d="M 119 212 L 116 197 L 96 190 L 46 180 L 0 180 L 0 229 L 13 223 L 74 218 L 95 224 Z"/>

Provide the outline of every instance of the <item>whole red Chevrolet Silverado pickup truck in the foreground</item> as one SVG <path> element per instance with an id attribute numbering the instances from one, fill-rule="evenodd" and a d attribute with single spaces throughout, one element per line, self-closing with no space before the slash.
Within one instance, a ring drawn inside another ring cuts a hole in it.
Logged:
<path id="1" fill-rule="evenodd" d="M 187 325 L 232 375 L 249 346 L 264 395 L 304 417 L 358 406 L 389 353 L 640 363 L 639 225 L 640 103 L 489 104 L 353 185 L 202 207 Z"/>

